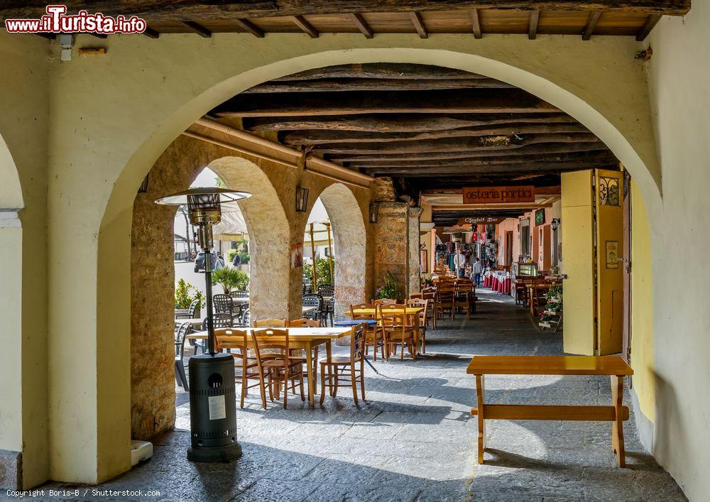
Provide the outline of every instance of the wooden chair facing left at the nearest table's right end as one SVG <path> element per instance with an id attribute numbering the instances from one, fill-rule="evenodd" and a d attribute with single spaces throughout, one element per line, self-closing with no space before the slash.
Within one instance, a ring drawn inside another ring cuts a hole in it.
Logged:
<path id="1" fill-rule="evenodd" d="M 327 361 L 320 362 L 320 403 L 325 399 L 325 388 L 331 389 L 331 395 L 338 395 L 339 383 L 349 383 L 353 389 L 355 404 L 357 399 L 357 381 L 360 381 L 360 395 L 365 400 L 365 329 L 367 324 L 358 324 L 353 327 L 350 335 L 350 355 L 334 356 Z"/>

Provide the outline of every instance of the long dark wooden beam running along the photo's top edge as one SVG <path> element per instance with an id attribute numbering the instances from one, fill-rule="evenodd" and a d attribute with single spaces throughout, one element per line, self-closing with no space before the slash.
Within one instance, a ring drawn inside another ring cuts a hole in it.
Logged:
<path id="1" fill-rule="evenodd" d="M 65 1 L 68 12 L 87 8 L 86 1 Z M 266 16 L 304 16 L 354 12 L 411 12 L 470 9 L 519 9 L 540 11 L 610 11 L 684 16 L 691 0 L 97 0 L 92 11 L 105 16 L 140 16 L 147 21 L 176 19 L 234 19 Z M 0 4 L 0 18 L 38 18 L 45 14 L 45 4 L 5 0 Z"/>

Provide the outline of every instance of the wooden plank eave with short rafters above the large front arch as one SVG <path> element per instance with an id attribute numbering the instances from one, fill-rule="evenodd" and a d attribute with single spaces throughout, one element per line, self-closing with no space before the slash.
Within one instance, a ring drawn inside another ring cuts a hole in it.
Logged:
<path id="1" fill-rule="evenodd" d="M 643 40 L 663 15 L 683 16 L 691 0 L 192 0 L 66 1 L 67 11 L 141 16 L 160 33 L 486 33 L 634 36 Z M 0 18 L 36 18 L 45 1 L 0 0 Z"/>

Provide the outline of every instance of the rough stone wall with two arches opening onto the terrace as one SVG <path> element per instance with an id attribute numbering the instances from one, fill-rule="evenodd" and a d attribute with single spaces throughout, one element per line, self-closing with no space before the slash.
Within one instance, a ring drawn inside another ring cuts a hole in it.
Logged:
<path id="1" fill-rule="evenodd" d="M 228 141 L 228 138 L 225 138 Z M 290 249 L 302 243 L 318 195 L 332 219 L 337 256 L 337 305 L 373 294 L 374 225 L 368 222 L 369 189 L 351 187 L 302 168 L 237 154 L 180 136 L 148 175 L 148 192 L 133 203 L 131 232 L 131 435 L 148 439 L 175 424 L 173 268 L 174 207 L 154 204 L 187 190 L 205 168 L 227 187 L 253 194 L 239 202 L 251 247 L 252 319 L 301 317 L 302 268 L 290 267 Z M 310 190 L 309 208 L 295 212 L 295 187 Z M 393 195 L 393 192 L 392 192 Z M 402 227 L 400 227 L 402 230 Z M 403 233 L 406 241 L 406 235 Z M 406 262 L 406 260 L 405 260 Z M 203 310 L 204 314 L 204 310 Z"/>

